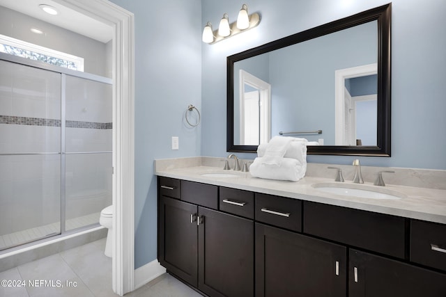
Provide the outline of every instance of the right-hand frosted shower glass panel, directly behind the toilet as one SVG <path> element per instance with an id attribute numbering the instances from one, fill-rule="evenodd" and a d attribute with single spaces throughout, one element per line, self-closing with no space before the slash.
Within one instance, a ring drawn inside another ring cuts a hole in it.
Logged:
<path id="1" fill-rule="evenodd" d="M 112 204 L 112 85 L 79 77 L 65 83 L 65 230 L 98 223 Z"/>

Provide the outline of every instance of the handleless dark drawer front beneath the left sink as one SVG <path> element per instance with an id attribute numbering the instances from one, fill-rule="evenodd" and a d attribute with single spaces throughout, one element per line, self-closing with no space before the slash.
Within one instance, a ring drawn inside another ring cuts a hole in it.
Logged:
<path id="1" fill-rule="evenodd" d="M 199 182 L 181 181 L 181 200 L 203 207 L 217 209 L 218 187 Z"/>

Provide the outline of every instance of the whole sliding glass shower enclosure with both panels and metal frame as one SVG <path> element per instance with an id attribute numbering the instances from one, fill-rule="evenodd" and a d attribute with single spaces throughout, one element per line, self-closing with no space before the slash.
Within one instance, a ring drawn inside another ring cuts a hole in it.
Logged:
<path id="1" fill-rule="evenodd" d="M 0 250 L 112 204 L 112 79 L 0 56 Z"/>

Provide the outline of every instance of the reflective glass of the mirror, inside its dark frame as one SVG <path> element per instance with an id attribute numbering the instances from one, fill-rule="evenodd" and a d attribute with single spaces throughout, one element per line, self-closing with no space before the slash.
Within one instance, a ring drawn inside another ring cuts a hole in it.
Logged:
<path id="1" fill-rule="evenodd" d="M 375 20 L 234 63 L 234 145 L 279 132 L 377 145 L 377 29 Z"/>

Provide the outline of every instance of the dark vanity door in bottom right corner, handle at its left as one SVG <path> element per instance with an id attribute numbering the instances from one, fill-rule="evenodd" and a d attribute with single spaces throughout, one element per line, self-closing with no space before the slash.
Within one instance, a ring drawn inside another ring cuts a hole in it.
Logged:
<path id="1" fill-rule="evenodd" d="M 350 250 L 350 297 L 445 297 L 446 275 Z"/>

